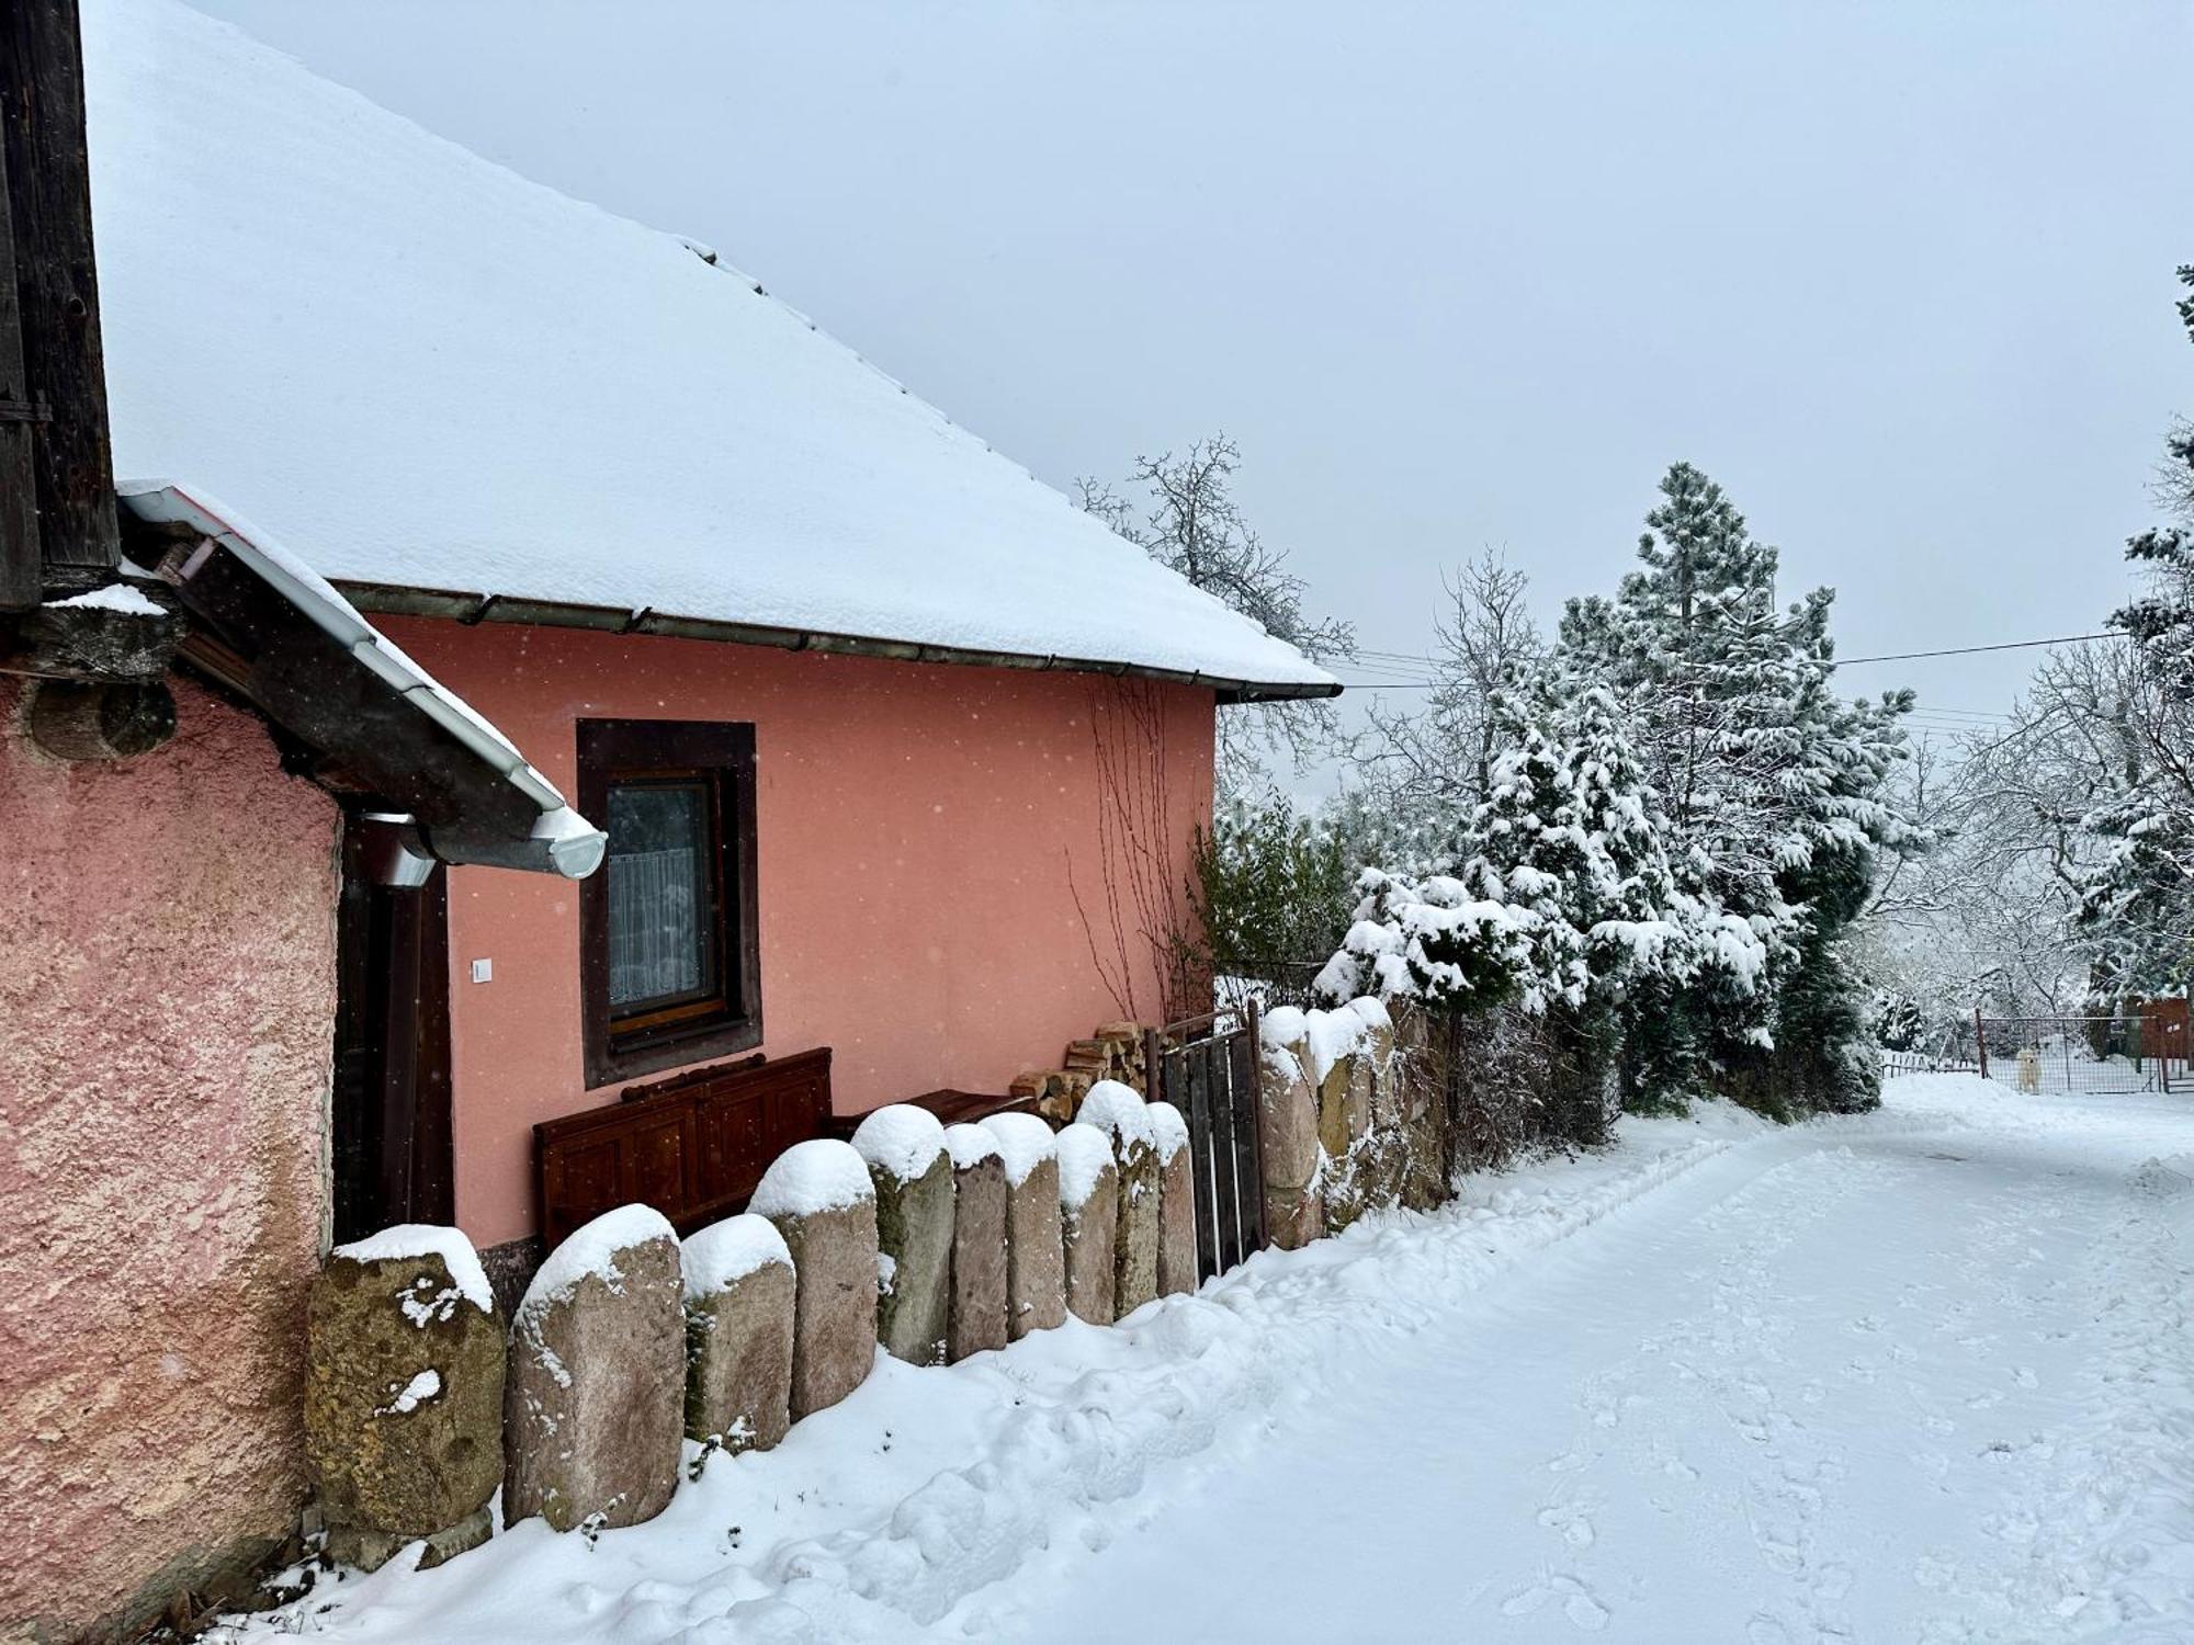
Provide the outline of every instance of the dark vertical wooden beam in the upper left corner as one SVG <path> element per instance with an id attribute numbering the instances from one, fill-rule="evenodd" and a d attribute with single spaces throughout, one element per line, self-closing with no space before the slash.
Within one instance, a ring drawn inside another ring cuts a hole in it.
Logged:
<path id="1" fill-rule="evenodd" d="M 20 404 L 31 415 L 42 404 L 46 415 L 31 423 L 44 583 L 77 592 L 108 581 L 121 557 L 77 0 L 0 4 L 0 154 L 13 224 Z M 9 588 L 22 599 L 15 583 Z"/>

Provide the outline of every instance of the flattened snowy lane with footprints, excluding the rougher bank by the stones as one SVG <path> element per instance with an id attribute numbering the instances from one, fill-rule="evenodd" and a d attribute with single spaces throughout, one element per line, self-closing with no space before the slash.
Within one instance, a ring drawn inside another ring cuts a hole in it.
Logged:
<path id="1" fill-rule="evenodd" d="M 2183 1463 L 2194 1184 L 2141 1162 L 2194 1114 L 2047 1119 L 1735 1149 L 1365 1366 L 1011 1632 L 2185 1641 L 2185 1476 L 2170 1522 L 2113 1520 L 2157 1430 Z"/>

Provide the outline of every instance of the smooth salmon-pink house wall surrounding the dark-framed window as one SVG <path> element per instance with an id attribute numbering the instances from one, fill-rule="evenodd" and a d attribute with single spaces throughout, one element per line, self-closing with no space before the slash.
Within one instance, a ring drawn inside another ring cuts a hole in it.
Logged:
<path id="1" fill-rule="evenodd" d="M 1211 816 L 1209 691 L 496 623 L 386 629 L 566 794 L 581 717 L 755 722 L 761 1051 L 832 1046 L 840 1112 L 1003 1092 L 1119 1016 L 1068 888 L 1071 862 L 1101 915 L 1095 711 L 1130 693 L 1156 711 L 1169 888 Z M 1154 967 L 1130 948 L 1150 1013 Z M 467 980 L 474 958 L 494 961 L 491 983 Z M 452 871 L 450 967 L 456 1217 L 494 1246 L 533 1230 L 531 1125 L 614 1099 L 581 1068 L 575 888 Z"/>

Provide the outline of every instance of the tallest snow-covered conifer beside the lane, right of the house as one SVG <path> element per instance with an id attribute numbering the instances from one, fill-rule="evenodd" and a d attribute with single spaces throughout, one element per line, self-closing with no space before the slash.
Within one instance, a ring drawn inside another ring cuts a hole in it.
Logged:
<path id="1" fill-rule="evenodd" d="M 1920 847 L 1887 794 L 1911 693 L 1834 697 L 1834 592 L 1777 612 L 1775 551 L 1696 467 L 1667 472 L 1646 524 L 1643 568 L 1571 601 L 1558 649 L 1628 706 L 1696 904 L 1698 969 L 1632 996 L 1632 1092 L 1703 1077 L 1768 1112 L 1869 1105 L 1863 991 L 1834 943 L 1876 855 Z"/>

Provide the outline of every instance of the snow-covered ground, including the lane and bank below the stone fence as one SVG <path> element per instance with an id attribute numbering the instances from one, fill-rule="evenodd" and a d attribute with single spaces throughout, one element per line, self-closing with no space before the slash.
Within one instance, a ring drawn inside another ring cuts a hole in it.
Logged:
<path id="1" fill-rule="evenodd" d="M 2187 1641 L 2190 1178 L 2185 1099 L 1966 1075 L 1624 1121 L 239 1632 Z"/>

